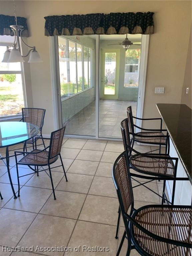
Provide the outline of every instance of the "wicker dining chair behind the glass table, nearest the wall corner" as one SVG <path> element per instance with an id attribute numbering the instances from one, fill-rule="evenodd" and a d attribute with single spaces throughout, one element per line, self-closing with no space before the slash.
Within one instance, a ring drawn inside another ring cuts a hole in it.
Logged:
<path id="1" fill-rule="evenodd" d="M 33 137 L 30 140 L 27 140 L 24 143 L 23 151 L 26 149 L 27 151 L 27 144 L 32 144 L 33 149 L 35 139 L 42 139 L 42 142 L 45 148 L 45 143 L 42 136 L 42 128 L 43 128 L 43 122 L 45 117 L 45 109 L 42 108 L 22 108 L 22 119 L 20 121 L 31 123 L 34 125 L 37 125 L 39 127 L 40 134 L 37 134 L 35 137 Z"/>

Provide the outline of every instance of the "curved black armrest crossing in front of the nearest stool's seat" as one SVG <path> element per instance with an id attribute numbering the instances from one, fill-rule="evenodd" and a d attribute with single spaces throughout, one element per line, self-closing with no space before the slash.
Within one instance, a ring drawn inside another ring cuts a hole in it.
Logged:
<path id="1" fill-rule="evenodd" d="M 190 243 L 176 241 L 176 240 L 173 240 L 173 239 L 169 239 L 169 238 L 165 238 L 165 237 L 161 237 L 161 236 L 158 236 L 156 234 L 153 234 L 149 230 L 147 230 L 144 227 L 142 227 L 137 221 L 135 221 L 127 213 L 124 213 L 124 215 L 134 226 L 136 226 L 143 233 L 147 234 L 148 236 L 152 237 L 153 239 L 156 239 L 158 241 L 161 241 L 161 242 L 164 242 L 164 243 L 167 243 L 167 244 L 173 244 L 173 245 L 176 245 L 176 246 L 182 246 L 182 247 L 191 248 L 191 244 Z"/>

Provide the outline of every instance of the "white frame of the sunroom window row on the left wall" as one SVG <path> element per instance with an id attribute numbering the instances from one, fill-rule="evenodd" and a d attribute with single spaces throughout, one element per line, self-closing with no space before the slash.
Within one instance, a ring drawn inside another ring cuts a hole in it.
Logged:
<path id="1" fill-rule="evenodd" d="M 63 38 L 66 40 L 66 52 L 67 52 L 67 58 L 69 57 L 69 41 L 75 43 L 75 75 L 76 75 L 76 86 L 77 86 L 77 93 L 74 93 L 74 94 L 71 94 L 69 95 L 69 92 L 68 92 L 68 95 L 66 97 L 63 97 L 63 99 L 61 99 L 61 101 L 64 101 L 64 100 L 67 100 L 71 97 L 74 97 L 80 93 L 83 93 L 89 89 L 92 89 L 93 88 L 93 56 L 94 56 L 94 49 L 91 48 L 90 46 L 87 46 L 85 44 L 82 44 L 80 42 L 76 42 L 75 40 L 73 39 L 69 39 L 65 36 L 63 36 Z M 57 40 L 58 40 L 58 45 L 59 45 L 59 36 L 57 36 Z M 81 45 L 81 63 L 82 63 L 82 91 L 78 92 L 78 69 L 77 69 L 77 45 Z M 57 46 L 58 47 L 58 46 Z M 87 57 L 87 70 L 88 70 L 88 88 L 85 89 L 85 84 L 84 84 L 84 79 L 85 79 L 85 76 L 84 76 L 84 47 L 86 47 L 88 49 L 88 57 Z M 59 49 L 59 48 L 58 48 Z M 90 69 L 89 70 L 89 50 L 90 50 Z M 59 51 L 58 51 L 59 53 Z M 59 66 L 59 58 L 58 58 L 58 66 Z M 70 64 L 69 64 L 70 61 L 67 61 L 67 81 L 68 81 L 68 73 L 69 73 L 69 79 L 70 79 Z M 60 71 L 60 66 L 59 66 L 59 71 Z M 60 73 L 60 72 L 59 72 Z M 90 83 L 89 83 L 89 74 L 90 74 Z M 60 77 L 60 75 L 59 75 Z M 69 80 L 70 82 L 70 80 Z M 61 83 L 60 81 L 60 78 L 59 78 L 59 84 Z M 61 87 L 60 87 L 61 88 Z"/>

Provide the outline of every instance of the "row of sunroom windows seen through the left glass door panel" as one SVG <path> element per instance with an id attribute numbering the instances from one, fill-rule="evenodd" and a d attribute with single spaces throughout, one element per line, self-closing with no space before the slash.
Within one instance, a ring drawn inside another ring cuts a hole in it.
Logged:
<path id="1" fill-rule="evenodd" d="M 61 98 L 93 87 L 93 49 L 58 37 Z"/>

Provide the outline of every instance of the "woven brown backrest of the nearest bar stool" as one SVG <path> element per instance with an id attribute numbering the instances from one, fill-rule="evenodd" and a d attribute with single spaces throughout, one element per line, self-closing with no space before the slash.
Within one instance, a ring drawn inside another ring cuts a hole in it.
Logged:
<path id="1" fill-rule="evenodd" d="M 122 214 L 124 212 L 127 213 L 129 207 L 131 205 L 133 207 L 133 190 L 126 151 L 121 153 L 115 160 L 112 168 L 112 176 Z"/>

